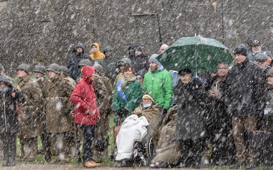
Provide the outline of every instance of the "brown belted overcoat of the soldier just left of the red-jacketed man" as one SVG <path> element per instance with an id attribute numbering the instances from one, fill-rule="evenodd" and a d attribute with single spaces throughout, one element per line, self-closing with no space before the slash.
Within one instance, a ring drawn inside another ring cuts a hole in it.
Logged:
<path id="1" fill-rule="evenodd" d="M 70 131 L 71 119 L 70 110 L 72 103 L 69 96 L 73 91 L 63 73 L 50 79 L 47 84 L 46 97 L 46 130 L 48 133 L 62 133 Z"/>

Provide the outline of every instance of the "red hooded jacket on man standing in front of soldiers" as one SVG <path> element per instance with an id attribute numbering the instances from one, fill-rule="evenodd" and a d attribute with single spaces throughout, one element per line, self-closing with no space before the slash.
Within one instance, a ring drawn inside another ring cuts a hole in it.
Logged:
<path id="1" fill-rule="evenodd" d="M 75 105 L 75 123 L 85 125 L 96 125 L 97 116 L 101 116 L 96 103 L 96 95 L 93 88 L 93 81 L 90 77 L 95 68 L 85 66 L 82 70 L 82 80 L 76 84 L 76 88 L 70 96 Z M 90 108 L 90 114 L 85 111 Z"/>

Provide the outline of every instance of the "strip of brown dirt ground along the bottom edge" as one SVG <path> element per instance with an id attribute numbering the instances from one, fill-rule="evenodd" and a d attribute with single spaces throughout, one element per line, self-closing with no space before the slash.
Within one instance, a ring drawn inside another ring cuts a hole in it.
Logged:
<path id="1" fill-rule="evenodd" d="M 82 170 L 85 169 L 83 166 L 73 166 L 73 165 L 36 165 L 36 164 L 16 164 L 13 167 L 1 167 L 1 170 Z M 151 170 L 146 167 L 109 167 L 102 166 L 95 168 L 96 170 Z M 175 168 L 174 168 L 175 169 Z M 166 170 L 174 170 L 174 169 L 166 169 Z M 164 169 L 161 169 L 164 170 Z M 195 169 L 185 169 L 185 170 L 195 170 Z M 200 169 L 200 170 L 213 170 L 213 169 Z M 217 169 L 219 170 L 219 168 Z M 227 170 L 227 169 L 225 169 Z"/>

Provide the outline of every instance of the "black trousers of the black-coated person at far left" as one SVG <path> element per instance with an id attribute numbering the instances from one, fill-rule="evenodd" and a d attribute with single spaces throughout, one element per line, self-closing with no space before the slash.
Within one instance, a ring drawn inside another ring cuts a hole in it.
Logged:
<path id="1" fill-rule="evenodd" d="M 4 158 L 8 157 L 8 152 L 10 150 L 10 155 L 12 158 L 16 157 L 16 133 L 1 133 L 0 138 L 2 141 L 2 148 Z"/>

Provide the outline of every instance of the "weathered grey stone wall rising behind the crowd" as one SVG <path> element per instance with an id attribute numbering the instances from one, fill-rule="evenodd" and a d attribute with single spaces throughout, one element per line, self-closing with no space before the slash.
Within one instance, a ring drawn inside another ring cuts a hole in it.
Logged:
<path id="1" fill-rule="evenodd" d="M 147 54 L 180 37 L 199 34 L 222 42 L 221 0 L 0 0 L 0 62 L 11 74 L 19 63 L 66 65 L 71 47 L 98 42 L 127 55 L 131 43 Z M 226 0 L 226 46 L 256 32 L 272 49 L 271 0 Z"/>

